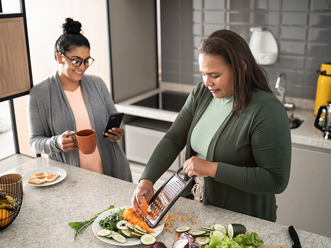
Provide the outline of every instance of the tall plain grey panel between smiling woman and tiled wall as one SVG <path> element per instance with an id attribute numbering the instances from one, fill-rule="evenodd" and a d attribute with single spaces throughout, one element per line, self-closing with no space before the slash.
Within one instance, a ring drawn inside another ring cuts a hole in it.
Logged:
<path id="1" fill-rule="evenodd" d="M 157 87 L 155 0 L 108 0 L 115 103 Z"/>

